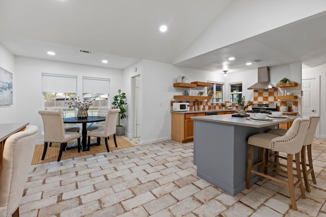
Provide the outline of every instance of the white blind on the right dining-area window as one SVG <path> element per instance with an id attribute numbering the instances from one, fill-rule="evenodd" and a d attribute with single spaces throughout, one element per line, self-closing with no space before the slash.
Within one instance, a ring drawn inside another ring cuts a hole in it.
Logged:
<path id="1" fill-rule="evenodd" d="M 110 94 L 110 79 L 83 76 L 83 93 Z"/>

